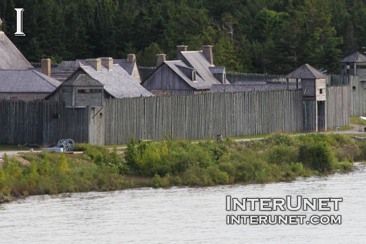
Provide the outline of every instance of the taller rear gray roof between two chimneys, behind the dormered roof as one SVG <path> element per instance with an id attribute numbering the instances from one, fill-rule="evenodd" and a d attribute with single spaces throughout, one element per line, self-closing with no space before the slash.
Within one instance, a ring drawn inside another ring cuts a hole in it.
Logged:
<path id="1" fill-rule="evenodd" d="M 212 75 L 209 67 L 215 67 L 215 65 L 211 65 L 205 55 L 201 51 L 182 51 L 175 58 L 175 60 L 180 59 L 180 55 L 183 56 L 189 64 L 189 67 L 195 69 L 197 74 L 201 76 L 201 78 L 206 81 L 208 84 L 221 84 L 221 82 Z"/>

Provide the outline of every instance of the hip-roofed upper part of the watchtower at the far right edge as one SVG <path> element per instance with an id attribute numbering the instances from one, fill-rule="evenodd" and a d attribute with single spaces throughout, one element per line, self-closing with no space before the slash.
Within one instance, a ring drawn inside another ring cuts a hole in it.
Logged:
<path id="1" fill-rule="evenodd" d="M 358 75 L 360 81 L 366 81 L 366 56 L 354 52 L 340 61 L 341 75 Z"/>

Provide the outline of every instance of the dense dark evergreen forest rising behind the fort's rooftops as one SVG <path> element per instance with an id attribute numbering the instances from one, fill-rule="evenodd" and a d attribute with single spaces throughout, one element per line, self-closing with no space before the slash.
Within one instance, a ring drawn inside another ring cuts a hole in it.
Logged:
<path id="1" fill-rule="evenodd" d="M 24 8 L 15 37 L 16 12 Z M 0 0 L 3 31 L 31 62 L 135 53 L 139 66 L 177 45 L 214 46 L 228 71 L 288 74 L 310 64 L 339 72 L 339 60 L 366 46 L 361 0 Z"/>

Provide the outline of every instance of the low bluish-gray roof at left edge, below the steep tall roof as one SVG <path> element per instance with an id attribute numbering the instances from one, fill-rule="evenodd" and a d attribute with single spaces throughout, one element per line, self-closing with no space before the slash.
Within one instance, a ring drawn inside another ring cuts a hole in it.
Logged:
<path id="1" fill-rule="evenodd" d="M 0 70 L 0 93 L 51 93 L 60 84 L 35 70 Z"/>

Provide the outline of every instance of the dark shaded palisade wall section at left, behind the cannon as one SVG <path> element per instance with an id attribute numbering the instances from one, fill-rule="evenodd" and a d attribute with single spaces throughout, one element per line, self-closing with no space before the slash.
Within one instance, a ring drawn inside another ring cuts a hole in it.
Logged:
<path id="1" fill-rule="evenodd" d="M 0 100 L 0 144 L 53 146 L 69 138 L 88 142 L 89 110 L 59 102 Z"/>

